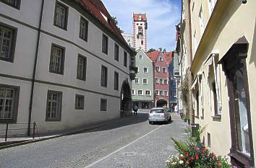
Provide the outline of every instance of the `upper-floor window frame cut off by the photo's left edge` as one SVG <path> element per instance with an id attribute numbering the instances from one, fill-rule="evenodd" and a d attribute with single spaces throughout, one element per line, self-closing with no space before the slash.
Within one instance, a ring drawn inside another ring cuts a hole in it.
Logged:
<path id="1" fill-rule="evenodd" d="M 9 53 L 9 58 L 3 58 L 0 57 L 0 61 L 7 61 L 10 63 L 14 62 L 14 53 L 15 53 L 15 48 L 16 48 L 16 41 L 17 41 L 17 27 L 12 27 L 10 25 L 7 25 L 3 22 L 0 22 L 0 27 L 4 27 L 7 30 L 11 30 L 12 31 L 12 41 L 10 43 L 11 47 L 10 47 L 10 53 Z M 1 52 L 1 45 L 0 45 L 0 52 Z"/>

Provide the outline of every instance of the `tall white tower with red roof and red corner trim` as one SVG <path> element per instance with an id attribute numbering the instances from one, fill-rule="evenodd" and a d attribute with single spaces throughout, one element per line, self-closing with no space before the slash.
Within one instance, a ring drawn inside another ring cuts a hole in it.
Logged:
<path id="1" fill-rule="evenodd" d="M 147 52 L 147 29 L 146 14 L 133 13 L 133 47 L 135 50 L 142 49 Z"/>

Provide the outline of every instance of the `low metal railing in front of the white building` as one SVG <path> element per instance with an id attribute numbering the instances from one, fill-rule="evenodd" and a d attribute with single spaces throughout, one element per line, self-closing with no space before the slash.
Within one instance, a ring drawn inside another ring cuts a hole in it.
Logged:
<path id="1" fill-rule="evenodd" d="M 18 125 L 15 128 L 10 128 L 10 125 Z M 21 125 L 21 126 L 20 126 Z M 28 125 L 28 123 L 9 123 L 8 121 L 6 122 L 6 128 L 5 129 L 0 129 L 0 137 L 4 137 L 4 141 L 7 141 L 8 137 L 27 137 L 27 133 L 18 133 L 19 131 L 27 131 L 29 128 L 22 128 L 23 125 Z M 34 123 L 30 123 L 30 125 L 33 125 L 33 127 L 30 127 L 30 130 L 32 130 L 32 135 L 30 135 L 33 139 L 35 138 L 35 135 L 39 136 L 38 132 L 38 125 L 36 125 L 35 121 Z M 20 128 L 21 127 L 21 128 Z M 10 131 L 16 131 L 16 133 L 10 133 Z M 30 137 L 28 136 L 28 137 Z"/>

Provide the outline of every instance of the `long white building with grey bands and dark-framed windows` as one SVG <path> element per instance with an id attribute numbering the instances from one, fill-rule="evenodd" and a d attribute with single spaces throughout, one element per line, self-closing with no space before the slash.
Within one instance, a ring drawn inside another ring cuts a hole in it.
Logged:
<path id="1" fill-rule="evenodd" d="M 135 52 L 101 1 L 0 4 L 0 128 L 60 131 L 131 112 Z"/>

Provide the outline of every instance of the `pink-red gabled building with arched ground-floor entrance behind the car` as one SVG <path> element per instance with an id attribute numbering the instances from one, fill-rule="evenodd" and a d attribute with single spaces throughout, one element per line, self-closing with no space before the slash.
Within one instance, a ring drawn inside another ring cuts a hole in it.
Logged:
<path id="1" fill-rule="evenodd" d="M 147 56 L 153 61 L 154 105 L 155 107 L 169 107 L 169 76 L 166 58 L 159 50 L 148 53 Z"/>

